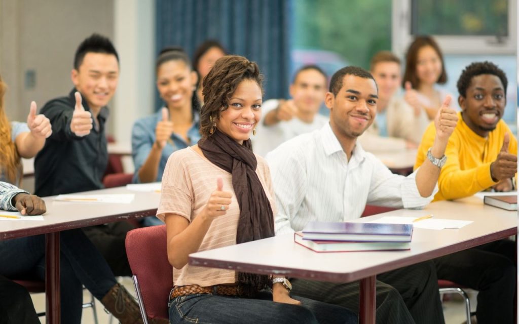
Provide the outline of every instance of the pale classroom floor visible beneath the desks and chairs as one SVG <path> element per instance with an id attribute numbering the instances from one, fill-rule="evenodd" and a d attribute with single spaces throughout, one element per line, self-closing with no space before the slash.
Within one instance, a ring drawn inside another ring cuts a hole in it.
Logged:
<path id="1" fill-rule="evenodd" d="M 130 277 L 122 277 L 119 278 L 119 282 L 122 283 L 126 289 L 130 292 L 134 292 L 133 288 L 133 282 Z M 475 300 L 475 293 L 468 291 L 470 295 L 470 302 L 472 309 L 475 309 L 476 306 L 476 300 Z M 38 293 L 32 295 L 34 306 L 36 308 L 36 312 L 41 312 L 45 309 L 45 294 Z M 88 301 L 90 300 L 90 293 L 85 290 L 84 291 L 84 300 Z M 112 322 L 110 322 L 110 315 L 106 314 L 106 312 L 103 309 L 103 305 L 96 301 L 97 305 L 97 313 L 98 313 L 98 319 L 99 324 L 116 324 L 117 321 L 114 318 Z M 465 318 L 465 306 L 461 300 L 458 299 L 450 299 L 449 301 L 446 301 L 443 303 L 443 313 L 445 314 L 445 323 L 446 324 L 461 324 L 463 323 Z M 45 317 L 40 317 L 40 321 L 42 323 L 45 323 Z M 81 320 L 81 323 L 83 324 L 94 324 L 93 320 L 93 313 L 91 308 L 85 308 L 83 309 L 83 320 Z"/>

